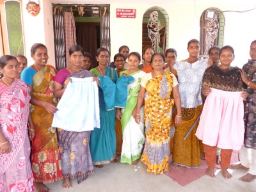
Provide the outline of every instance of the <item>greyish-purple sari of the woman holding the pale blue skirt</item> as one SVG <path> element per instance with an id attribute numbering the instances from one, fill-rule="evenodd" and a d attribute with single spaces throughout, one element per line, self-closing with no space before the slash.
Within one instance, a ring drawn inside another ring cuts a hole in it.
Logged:
<path id="1" fill-rule="evenodd" d="M 85 78 L 93 77 L 93 74 L 88 70 L 82 70 L 70 74 L 66 79 L 69 77 Z M 90 136 L 91 131 L 74 132 L 58 128 L 63 177 L 70 179 L 77 177 L 78 184 L 94 173 L 89 145 Z"/>

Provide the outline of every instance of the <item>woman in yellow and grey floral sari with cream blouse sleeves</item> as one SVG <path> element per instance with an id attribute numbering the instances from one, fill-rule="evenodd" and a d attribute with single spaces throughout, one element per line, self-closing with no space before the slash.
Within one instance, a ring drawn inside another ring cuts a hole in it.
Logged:
<path id="1" fill-rule="evenodd" d="M 153 72 L 141 79 L 136 114 L 133 115 L 139 123 L 140 108 L 145 97 L 146 141 L 141 162 L 147 165 L 148 173 L 163 174 L 169 171 L 169 134 L 174 103 L 177 108 L 175 124 L 179 125 L 181 122 L 180 95 L 176 77 L 171 72 L 163 71 L 164 55 L 153 54 L 151 66 Z M 174 99 L 171 99 L 171 94 Z"/>

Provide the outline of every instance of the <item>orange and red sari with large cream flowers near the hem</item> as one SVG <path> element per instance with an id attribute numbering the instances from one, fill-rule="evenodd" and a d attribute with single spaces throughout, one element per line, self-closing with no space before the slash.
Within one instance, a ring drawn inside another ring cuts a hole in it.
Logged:
<path id="1" fill-rule="evenodd" d="M 33 96 L 56 105 L 53 96 L 53 81 L 56 69 L 46 65 L 33 76 Z M 32 170 L 36 182 L 51 183 L 63 179 L 56 128 L 51 127 L 53 115 L 43 106 L 31 104 L 31 117 L 35 129 L 32 140 Z"/>

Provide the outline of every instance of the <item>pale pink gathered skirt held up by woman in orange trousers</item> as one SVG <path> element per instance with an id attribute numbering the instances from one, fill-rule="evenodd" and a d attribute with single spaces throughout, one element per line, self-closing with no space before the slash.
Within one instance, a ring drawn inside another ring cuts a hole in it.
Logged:
<path id="1" fill-rule="evenodd" d="M 205 100 L 196 136 L 206 145 L 239 150 L 244 141 L 242 92 L 211 90 Z"/>

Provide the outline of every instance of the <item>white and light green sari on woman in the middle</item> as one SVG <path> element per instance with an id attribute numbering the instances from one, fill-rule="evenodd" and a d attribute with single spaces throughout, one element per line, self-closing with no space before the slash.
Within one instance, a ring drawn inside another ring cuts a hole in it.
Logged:
<path id="1" fill-rule="evenodd" d="M 138 93 L 140 92 L 141 77 L 145 76 L 145 72 L 138 70 L 130 76 L 134 77 L 135 81 L 128 84 L 127 102 L 125 109 L 122 109 L 121 124 L 123 144 L 120 162 L 132 164 L 133 161 L 140 159 L 141 150 L 145 142 L 143 108 L 140 109 L 140 124 L 137 124 L 132 116 L 132 111 L 136 107 Z"/>

